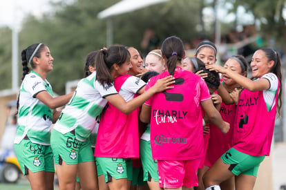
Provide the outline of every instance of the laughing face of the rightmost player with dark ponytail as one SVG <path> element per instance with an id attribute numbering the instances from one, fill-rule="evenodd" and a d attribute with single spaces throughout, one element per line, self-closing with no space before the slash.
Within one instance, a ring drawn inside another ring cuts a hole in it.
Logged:
<path id="1" fill-rule="evenodd" d="M 251 59 L 252 77 L 259 78 L 269 72 L 274 61 L 269 61 L 263 50 L 257 50 Z"/>

